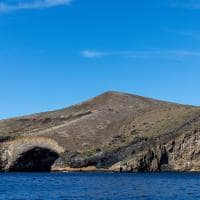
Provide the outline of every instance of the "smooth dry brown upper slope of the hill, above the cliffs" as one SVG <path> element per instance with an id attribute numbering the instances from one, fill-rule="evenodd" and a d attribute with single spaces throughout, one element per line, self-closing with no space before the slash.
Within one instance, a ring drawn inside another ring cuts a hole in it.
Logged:
<path id="1" fill-rule="evenodd" d="M 68 151 L 95 152 L 178 129 L 200 108 L 107 92 L 70 108 L 0 121 L 2 141 L 45 136 Z M 89 154 L 88 153 L 88 154 Z"/>

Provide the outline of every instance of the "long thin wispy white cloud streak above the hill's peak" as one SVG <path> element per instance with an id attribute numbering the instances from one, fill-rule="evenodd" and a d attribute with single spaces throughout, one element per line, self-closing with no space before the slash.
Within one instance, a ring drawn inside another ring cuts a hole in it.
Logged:
<path id="1" fill-rule="evenodd" d="M 183 59 L 189 57 L 200 58 L 200 51 L 188 50 L 140 50 L 140 51 L 81 51 L 81 56 L 85 58 L 101 58 L 110 56 L 119 56 L 126 58 L 161 58 L 161 59 Z"/>

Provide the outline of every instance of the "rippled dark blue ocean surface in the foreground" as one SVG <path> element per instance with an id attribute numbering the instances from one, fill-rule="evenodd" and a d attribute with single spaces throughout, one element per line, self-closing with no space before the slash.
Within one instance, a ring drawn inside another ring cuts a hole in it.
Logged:
<path id="1" fill-rule="evenodd" d="M 200 200 L 199 173 L 2 173 L 3 200 Z"/>

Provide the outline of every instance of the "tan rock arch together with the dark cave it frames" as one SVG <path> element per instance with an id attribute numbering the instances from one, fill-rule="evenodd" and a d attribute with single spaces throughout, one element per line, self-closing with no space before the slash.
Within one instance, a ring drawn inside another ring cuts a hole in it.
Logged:
<path id="1" fill-rule="evenodd" d="M 17 139 L 5 151 L 5 171 L 50 171 L 51 166 L 64 151 L 63 147 L 50 138 L 29 137 Z"/>

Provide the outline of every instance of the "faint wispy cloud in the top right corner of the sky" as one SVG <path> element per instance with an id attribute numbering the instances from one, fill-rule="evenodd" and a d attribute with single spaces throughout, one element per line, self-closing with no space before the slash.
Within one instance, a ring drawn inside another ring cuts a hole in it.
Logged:
<path id="1" fill-rule="evenodd" d="M 170 0 L 170 5 L 185 9 L 200 9 L 199 0 Z"/>

